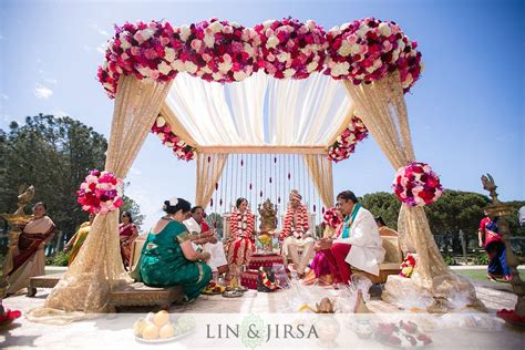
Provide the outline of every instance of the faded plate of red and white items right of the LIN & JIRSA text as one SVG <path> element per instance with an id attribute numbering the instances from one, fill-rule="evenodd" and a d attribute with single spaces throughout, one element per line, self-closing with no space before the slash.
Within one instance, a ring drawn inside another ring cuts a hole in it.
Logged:
<path id="1" fill-rule="evenodd" d="M 432 343 L 432 339 L 421 332 L 418 325 L 402 320 L 397 323 L 379 323 L 375 339 L 393 348 L 422 348 Z"/>

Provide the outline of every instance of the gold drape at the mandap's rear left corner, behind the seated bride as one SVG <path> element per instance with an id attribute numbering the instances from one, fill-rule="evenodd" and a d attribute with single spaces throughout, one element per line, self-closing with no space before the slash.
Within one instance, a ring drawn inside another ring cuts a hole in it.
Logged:
<path id="1" fill-rule="evenodd" d="M 228 159 L 225 153 L 197 153 L 195 204 L 206 207 Z"/>

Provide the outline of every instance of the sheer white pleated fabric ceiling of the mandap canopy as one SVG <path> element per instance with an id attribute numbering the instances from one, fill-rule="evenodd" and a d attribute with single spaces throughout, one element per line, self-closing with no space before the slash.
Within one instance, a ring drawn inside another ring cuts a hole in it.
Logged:
<path id="1" fill-rule="evenodd" d="M 199 146 L 327 146 L 352 107 L 330 76 L 264 72 L 224 85 L 178 74 L 166 105 Z"/>

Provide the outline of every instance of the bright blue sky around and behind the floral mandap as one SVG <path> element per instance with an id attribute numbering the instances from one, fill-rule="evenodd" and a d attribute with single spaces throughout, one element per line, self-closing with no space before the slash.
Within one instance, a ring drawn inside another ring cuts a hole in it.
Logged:
<path id="1" fill-rule="evenodd" d="M 503 199 L 525 199 L 523 1 L 6 1 L 0 4 L 0 127 L 39 112 L 66 114 L 109 135 L 113 101 L 96 66 L 113 23 L 219 17 L 253 25 L 291 16 L 325 29 L 375 17 L 419 43 L 425 71 L 406 95 L 416 158 L 447 188 L 482 192 L 491 173 Z M 127 181 L 148 216 L 166 193 L 194 199 L 195 164 L 148 136 Z M 373 138 L 334 166 L 334 192 L 390 191 L 393 169 Z"/>

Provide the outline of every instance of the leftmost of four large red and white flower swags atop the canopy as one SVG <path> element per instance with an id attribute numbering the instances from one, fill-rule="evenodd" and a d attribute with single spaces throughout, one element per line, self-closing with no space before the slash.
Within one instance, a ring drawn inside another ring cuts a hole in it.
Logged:
<path id="1" fill-rule="evenodd" d="M 181 30 L 167 22 L 115 25 L 115 37 L 107 43 L 104 64 L 99 66 L 99 81 L 110 97 L 116 94 L 121 74 L 169 81 L 184 70 L 184 63 L 178 59 L 182 47 Z"/>

